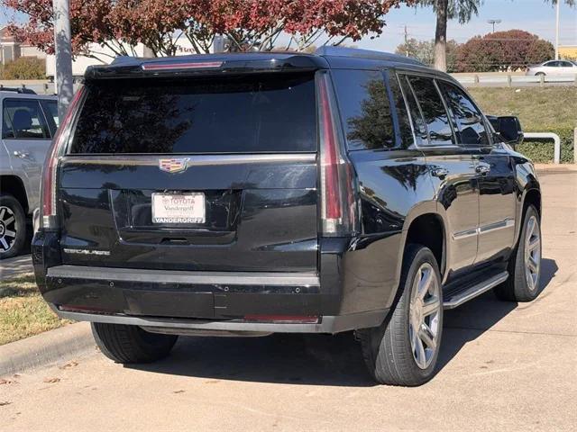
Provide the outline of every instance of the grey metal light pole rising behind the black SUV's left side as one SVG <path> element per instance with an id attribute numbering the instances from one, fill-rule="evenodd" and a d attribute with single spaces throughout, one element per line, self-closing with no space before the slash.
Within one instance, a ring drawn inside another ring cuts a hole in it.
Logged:
<path id="1" fill-rule="evenodd" d="M 52 0 L 54 8 L 54 54 L 56 55 L 56 93 L 58 117 L 64 119 L 72 100 L 72 45 L 70 43 L 69 0 Z"/>

